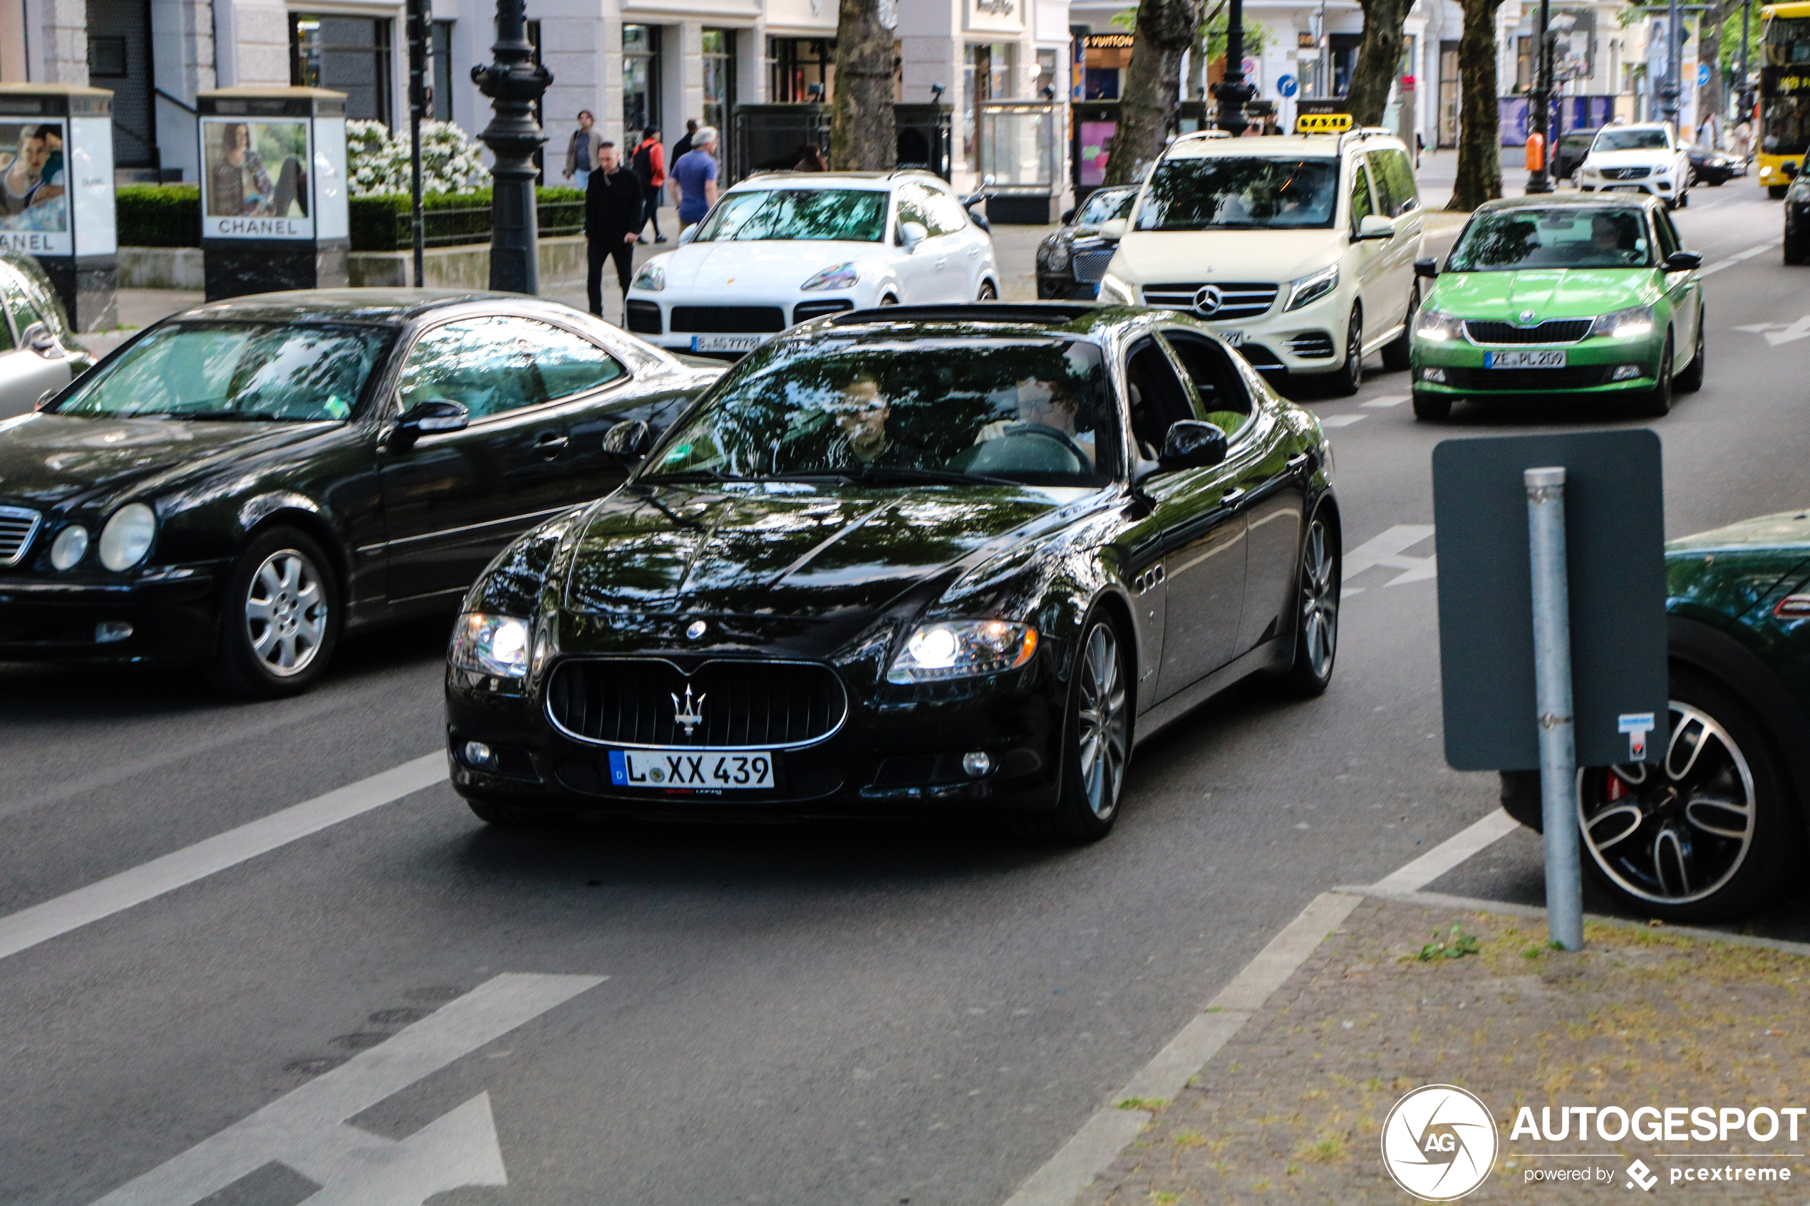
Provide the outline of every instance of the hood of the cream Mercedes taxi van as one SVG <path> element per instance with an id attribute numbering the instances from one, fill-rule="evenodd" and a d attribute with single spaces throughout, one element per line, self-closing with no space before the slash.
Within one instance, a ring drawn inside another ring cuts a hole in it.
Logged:
<path id="1" fill-rule="evenodd" d="M 1336 262 L 1343 230 L 1131 230 L 1106 271 L 1135 284 L 1289 282 Z"/>

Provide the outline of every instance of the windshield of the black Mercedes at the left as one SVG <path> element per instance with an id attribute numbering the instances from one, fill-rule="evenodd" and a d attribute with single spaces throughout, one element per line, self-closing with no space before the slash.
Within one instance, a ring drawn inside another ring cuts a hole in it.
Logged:
<path id="1" fill-rule="evenodd" d="M 346 419 L 389 344 L 353 325 L 181 322 L 139 338 L 56 414 L 172 419 Z"/>

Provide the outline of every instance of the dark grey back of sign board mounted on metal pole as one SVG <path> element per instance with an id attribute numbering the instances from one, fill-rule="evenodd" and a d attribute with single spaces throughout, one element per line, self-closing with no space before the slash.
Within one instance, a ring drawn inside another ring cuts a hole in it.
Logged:
<path id="1" fill-rule="evenodd" d="M 1448 439 L 1434 448 L 1446 761 L 1535 770 L 1533 586 L 1524 470 L 1566 468 L 1577 765 L 1665 749 L 1665 497 L 1651 430 Z M 1633 721 L 1629 721 L 1633 718 Z"/>

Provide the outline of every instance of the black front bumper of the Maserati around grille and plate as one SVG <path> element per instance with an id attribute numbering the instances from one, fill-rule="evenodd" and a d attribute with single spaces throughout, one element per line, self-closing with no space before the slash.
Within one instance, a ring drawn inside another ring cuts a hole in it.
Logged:
<path id="1" fill-rule="evenodd" d="M 1055 806 L 1059 790 L 1066 696 L 1052 667 L 1039 651 L 1021 671 L 959 683 L 863 691 L 849 682 L 842 727 L 778 750 L 778 781 L 764 792 L 615 787 L 612 747 L 561 732 L 532 687 L 494 693 L 449 669 L 447 763 L 460 796 L 529 812 L 742 819 L 1039 812 Z M 489 768 L 469 763 L 469 741 L 491 747 Z M 970 750 L 990 756 L 986 774 L 963 768 Z"/>

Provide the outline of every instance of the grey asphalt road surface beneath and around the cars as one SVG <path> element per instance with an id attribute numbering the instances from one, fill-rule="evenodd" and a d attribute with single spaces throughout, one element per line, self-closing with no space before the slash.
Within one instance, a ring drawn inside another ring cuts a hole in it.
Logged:
<path id="1" fill-rule="evenodd" d="M 1698 190 L 1678 215 L 1709 264 L 1763 250 L 1710 275 L 1709 383 L 1654 425 L 1674 535 L 1805 503 L 1805 344 L 1732 329 L 1810 311 L 1756 193 Z M 1439 439 L 1622 421 L 1461 407 L 1428 427 L 1405 396 L 1377 372 L 1310 403 L 1341 423 L 1348 553 L 1432 555 L 1399 528 L 1432 524 Z M 1493 776 L 1441 759 L 1428 570 L 1350 579 L 1325 698 L 1234 693 L 1146 745 L 1093 848 L 910 824 L 510 834 L 433 783 L 0 955 L 0 1201 L 130 1182 L 110 1201 L 290 1206 L 387 1168 L 387 1195 L 331 1201 L 996 1206 L 1316 893 L 1495 808 Z M 262 705 L 163 671 L 0 665 L 0 931 L 434 754 L 442 649 L 443 624 L 346 642 L 322 689 Z M 1537 872 L 1511 835 L 1434 888 L 1538 899 Z M 380 1045 L 434 1009 L 414 1063 Z M 136 1181 L 176 1157 L 174 1181 Z"/>

